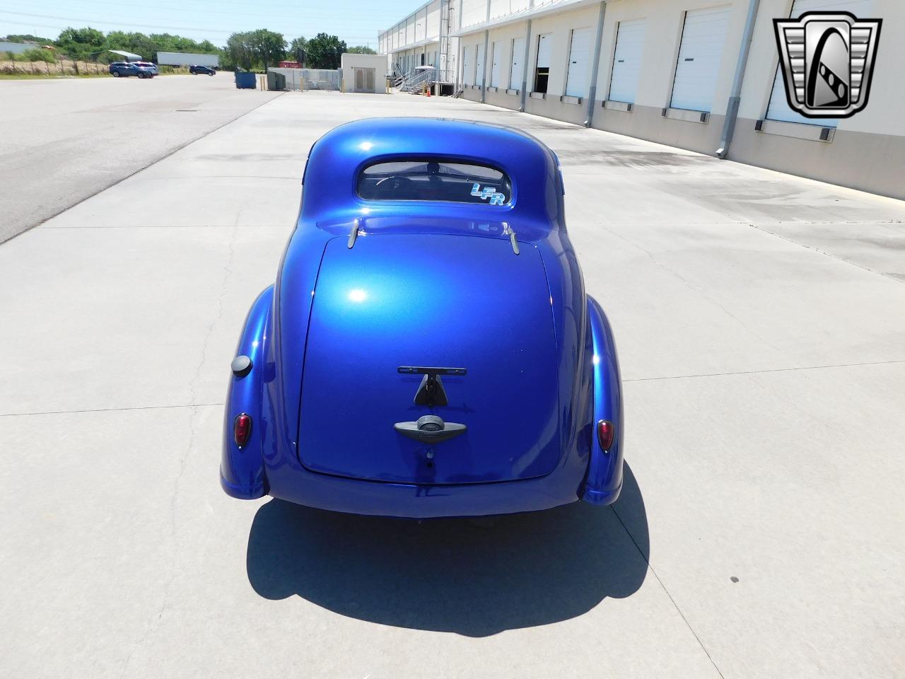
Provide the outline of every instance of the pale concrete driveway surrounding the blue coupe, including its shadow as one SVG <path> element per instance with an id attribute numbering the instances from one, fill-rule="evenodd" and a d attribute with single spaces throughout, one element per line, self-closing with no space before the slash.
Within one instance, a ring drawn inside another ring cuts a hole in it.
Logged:
<path id="1" fill-rule="evenodd" d="M 614 507 L 419 525 L 221 492 L 311 143 L 413 114 L 561 158 L 622 360 Z M 271 100 L 0 245 L 0 674 L 905 674 L 903 219 L 462 100 Z"/>

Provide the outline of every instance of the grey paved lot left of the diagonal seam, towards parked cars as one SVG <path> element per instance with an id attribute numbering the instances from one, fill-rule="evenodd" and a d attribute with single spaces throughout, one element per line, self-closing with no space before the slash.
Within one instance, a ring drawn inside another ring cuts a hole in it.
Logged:
<path id="1" fill-rule="evenodd" d="M 277 96 L 227 72 L 0 81 L 0 243 Z"/>

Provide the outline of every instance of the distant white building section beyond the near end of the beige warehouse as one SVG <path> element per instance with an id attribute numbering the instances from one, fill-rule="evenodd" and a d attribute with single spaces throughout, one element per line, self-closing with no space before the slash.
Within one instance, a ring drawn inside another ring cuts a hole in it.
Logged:
<path id="1" fill-rule="evenodd" d="M 387 54 L 389 70 L 407 73 L 418 66 L 433 66 L 454 81 L 458 73 L 459 41 L 454 5 L 461 0 L 432 0 L 398 24 L 377 34 L 377 52 Z"/>

